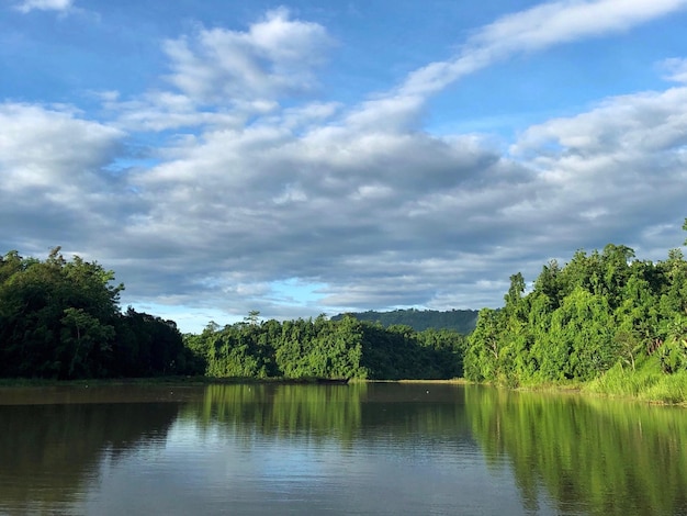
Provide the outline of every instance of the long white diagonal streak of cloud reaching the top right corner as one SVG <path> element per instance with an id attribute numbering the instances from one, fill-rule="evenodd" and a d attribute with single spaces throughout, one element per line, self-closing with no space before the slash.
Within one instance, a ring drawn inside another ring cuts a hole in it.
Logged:
<path id="1" fill-rule="evenodd" d="M 416 130 L 426 99 L 464 76 L 514 54 L 626 31 L 685 7 L 687 0 L 564 0 L 505 15 L 476 30 L 452 59 L 430 63 L 353 109 L 347 122 Z"/>

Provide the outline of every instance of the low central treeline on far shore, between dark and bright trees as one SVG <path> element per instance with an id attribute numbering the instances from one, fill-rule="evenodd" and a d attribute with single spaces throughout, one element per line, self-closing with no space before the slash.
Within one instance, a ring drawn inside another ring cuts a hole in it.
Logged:
<path id="1" fill-rule="evenodd" d="M 187 345 L 210 377 L 286 379 L 450 379 L 462 374 L 464 337 L 344 317 L 259 323 L 255 315 L 210 324 Z"/>

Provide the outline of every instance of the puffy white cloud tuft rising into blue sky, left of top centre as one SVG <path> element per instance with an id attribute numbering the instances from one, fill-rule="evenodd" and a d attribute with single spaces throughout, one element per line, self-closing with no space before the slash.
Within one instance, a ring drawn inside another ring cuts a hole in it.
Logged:
<path id="1" fill-rule="evenodd" d="M 330 44 L 322 25 L 292 20 L 280 8 L 247 32 L 200 29 L 167 41 L 165 51 L 177 88 L 200 103 L 232 104 L 312 90 Z"/>

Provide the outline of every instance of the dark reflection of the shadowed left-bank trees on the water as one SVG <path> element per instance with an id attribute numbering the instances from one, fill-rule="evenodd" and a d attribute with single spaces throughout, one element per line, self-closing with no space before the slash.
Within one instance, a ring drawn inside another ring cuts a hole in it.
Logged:
<path id="1" fill-rule="evenodd" d="M 69 514 L 105 455 L 164 442 L 177 414 L 167 403 L 0 405 L 0 514 Z"/>

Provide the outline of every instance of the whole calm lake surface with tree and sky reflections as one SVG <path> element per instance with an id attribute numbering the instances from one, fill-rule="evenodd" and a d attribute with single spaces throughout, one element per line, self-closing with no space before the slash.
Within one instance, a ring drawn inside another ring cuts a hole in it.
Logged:
<path id="1" fill-rule="evenodd" d="M 472 385 L 0 389 L 0 514 L 687 515 L 687 410 Z"/>

